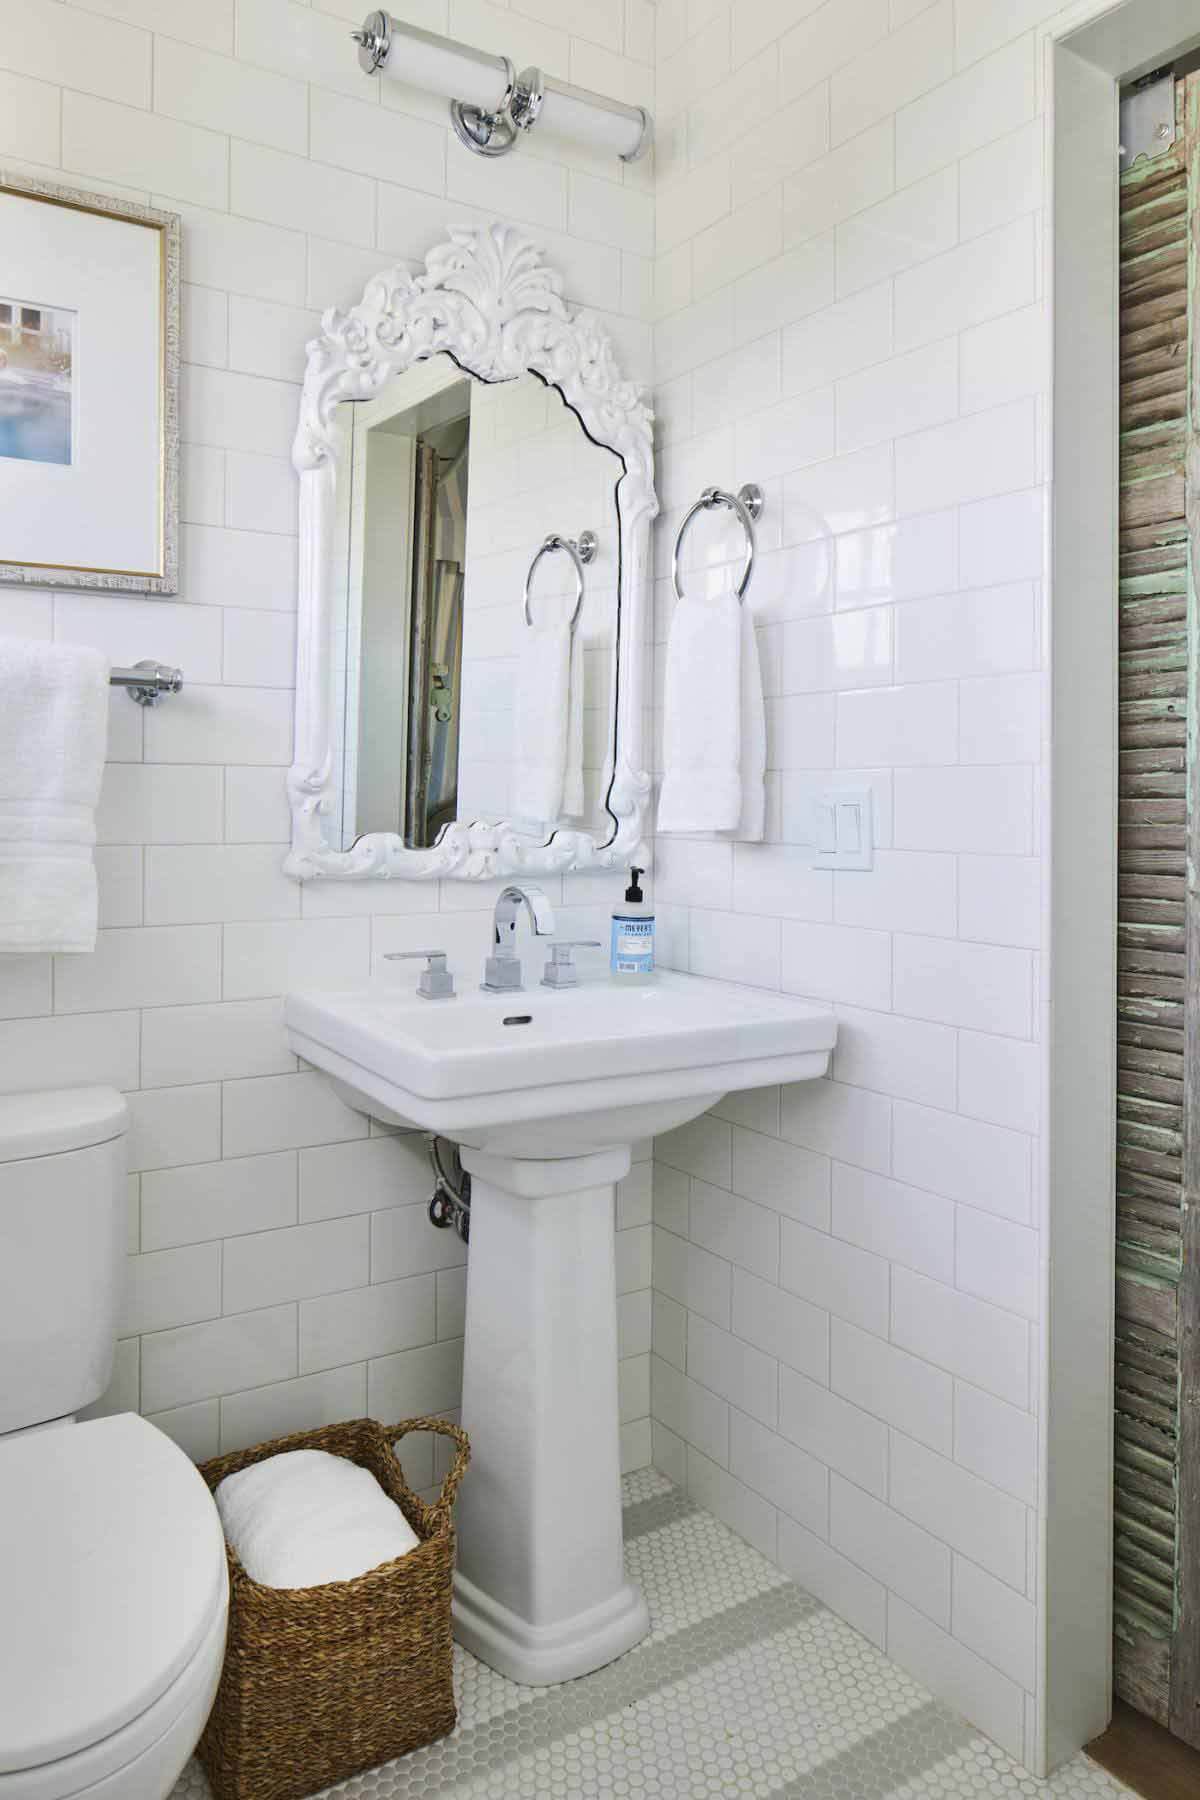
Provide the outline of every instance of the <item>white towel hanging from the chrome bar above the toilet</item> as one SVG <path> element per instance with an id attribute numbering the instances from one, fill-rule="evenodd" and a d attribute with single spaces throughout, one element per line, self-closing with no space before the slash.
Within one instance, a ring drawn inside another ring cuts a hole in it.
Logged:
<path id="1" fill-rule="evenodd" d="M 0 950 L 94 950 L 108 661 L 0 637 Z"/>

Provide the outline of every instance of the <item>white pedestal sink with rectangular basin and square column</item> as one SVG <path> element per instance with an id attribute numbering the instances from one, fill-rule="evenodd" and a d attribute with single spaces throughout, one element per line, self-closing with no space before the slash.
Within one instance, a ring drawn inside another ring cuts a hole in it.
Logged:
<path id="1" fill-rule="evenodd" d="M 457 1636 L 515 1681 L 599 1669 L 648 1627 L 621 1543 L 615 1183 L 721 1094 L 824 1075 L 833 1013 L 662 974 L 291 994 L 286 1021 L 344 1100 L 453 1139 L 471 1175 Z"/>

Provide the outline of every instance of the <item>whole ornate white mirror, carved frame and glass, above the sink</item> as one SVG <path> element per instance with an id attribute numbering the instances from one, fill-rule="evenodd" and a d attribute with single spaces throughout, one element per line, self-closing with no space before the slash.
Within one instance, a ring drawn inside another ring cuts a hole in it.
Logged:
<path id="1" fill-rule="evenodd" d="M 293 448 L 290 875 L 637 860 L 649 423 L 507 225 L 324 315 Z"/>

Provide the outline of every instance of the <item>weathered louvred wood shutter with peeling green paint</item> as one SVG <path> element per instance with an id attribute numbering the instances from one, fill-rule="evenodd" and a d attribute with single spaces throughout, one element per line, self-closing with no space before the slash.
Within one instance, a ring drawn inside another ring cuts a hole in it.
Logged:
<path id="1" fill-rule="evenodd" d="M 1121 785 L 1117 844 L 1117 1694 L 1200 1744 L 1198 1269 L 1187 1114 L 1200 1040 L 1191 531 L 1196 77 L 1171 149 L 1121 178 Z M 1189 979 L 1191 970 L 1191 979 Z M 1180 1381 L 1182 1372 L 1182 1381 Z M 1191 1372 L 1191 1373 L 1189 1373 Z"/>

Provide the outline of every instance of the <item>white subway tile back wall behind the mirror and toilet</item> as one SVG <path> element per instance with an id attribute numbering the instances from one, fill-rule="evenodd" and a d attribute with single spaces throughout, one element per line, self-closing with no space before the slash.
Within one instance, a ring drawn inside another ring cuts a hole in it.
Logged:
<path id="1" fill-rule="evenodd" d="M 569 20 L 534 0 L 394 11 L 653 106 L 639 0 Z M 146 716 L 113 697 L 106 929 L 95 956 L 0 959 L 0 1089 L 130 1093 L 130 1292 L 101 1406 L 140 1408 L 193 1456 L 459 1404 L 466 1253 L 428 1222 L 425 1145 L 344 1107 L 281 1024 L 290 985 L 365 981 L 412 931 L 444 932 L 470 981 L 493 898 L 317 893 L 281 873 L 304 346 L 376 270 L 498 216 L 529 225 L 569 301 L 603 311 L 628 373 L 651 376 L 648 169 L 563 142 L 479 162 L 443 103 L 358 70 L 358 22 L 340 0 L 0 0 L 5 167 L 184 216 L 180 598 L 11 590 L 4 628 L 180 662 L 187 688 Z M 587 936 L 608 887 L 592 882 L 594 916 L 570 920 Z M 617 1220 L 630 1469 L 649 1460 L 649 1145 L 639 1156 Z"/>

